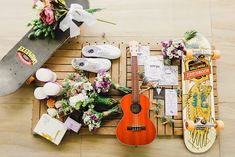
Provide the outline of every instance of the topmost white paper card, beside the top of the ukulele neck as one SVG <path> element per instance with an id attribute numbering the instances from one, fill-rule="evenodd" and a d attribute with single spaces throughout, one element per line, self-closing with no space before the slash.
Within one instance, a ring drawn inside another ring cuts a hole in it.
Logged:
<path id="1" fill-rule="evenodd" d="M 150 56 L 149 46 L 140 46 L 139 52 L 137 53 L 138 65 L 144 65 L 146 59 Z"/>

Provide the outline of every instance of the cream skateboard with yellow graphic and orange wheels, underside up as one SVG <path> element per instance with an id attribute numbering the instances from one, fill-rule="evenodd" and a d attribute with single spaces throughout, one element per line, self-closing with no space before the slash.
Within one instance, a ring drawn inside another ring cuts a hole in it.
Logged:
<path id="1" fill-rule="evenodd" d="M 203 40 L 186 43 L 182 59 L 184 143 L 193 153 L 209 150 L 224 127 L 221 120 L 215 119 L 214 107 L 212 60 L 219 58 L 219 52 L 211 50 L 204 37 L 200 38 Z"/>

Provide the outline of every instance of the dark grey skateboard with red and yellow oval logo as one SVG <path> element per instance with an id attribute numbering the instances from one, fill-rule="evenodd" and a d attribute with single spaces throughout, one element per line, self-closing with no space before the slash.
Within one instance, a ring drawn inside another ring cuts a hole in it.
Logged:
<path id="1" fill-rule="evenodd" d="M 66 0 L 67 6 L 79 3 L 88 9 L 88 0 Z M 82 23 L 76 23 L 80 26 Z M 30 40 L 29 32 L 0 61 L 0 96 L 15 92 L 49 57 L 69 39 L 69 30 L 56 30 L 55 39 Z M 32 77 L 29 79 L 29 82 Z"/>

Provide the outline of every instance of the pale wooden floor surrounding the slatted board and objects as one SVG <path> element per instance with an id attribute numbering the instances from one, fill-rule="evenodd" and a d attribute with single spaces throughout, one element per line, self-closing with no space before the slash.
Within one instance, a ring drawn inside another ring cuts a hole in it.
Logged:
<path id="1" fill-rule="evenodd" d="M 34 13 L 31 0 L 0 2 L 2 58 L 28 30 L 26 23 Z M 81 39 L 99 37 L 105 32 L 106 40 L 155 41 L 180 37 L 192 28 L 211 39 L 222 54 L 217 62 L 217 77 L 220 117 L 226 128 L 212 149 L 201 156 L 234 156 L 235 0 L 91 0 L 91 6 L 107 8 L 97 16 L 117 25 L 97 23 L 92 28 L 83 27 Z M 0 154 L 3 157 L 195 156 L 187 151 L 182 138 L 158 138 L 144 147 L 127 147 L 113 136 L 69 135 L 57 147 L 30 133 L 32 91 L 33 88 L 24 87 L 12 95 L 0 97 Z"/>

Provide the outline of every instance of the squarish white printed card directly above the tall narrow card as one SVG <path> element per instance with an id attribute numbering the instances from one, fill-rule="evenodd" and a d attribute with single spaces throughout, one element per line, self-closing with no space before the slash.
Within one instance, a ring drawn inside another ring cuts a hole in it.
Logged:
<path id="1" fill-rule="evenodd" d="M 178 66 L 164 66 L 159 85 L 178 85 Z"/>

